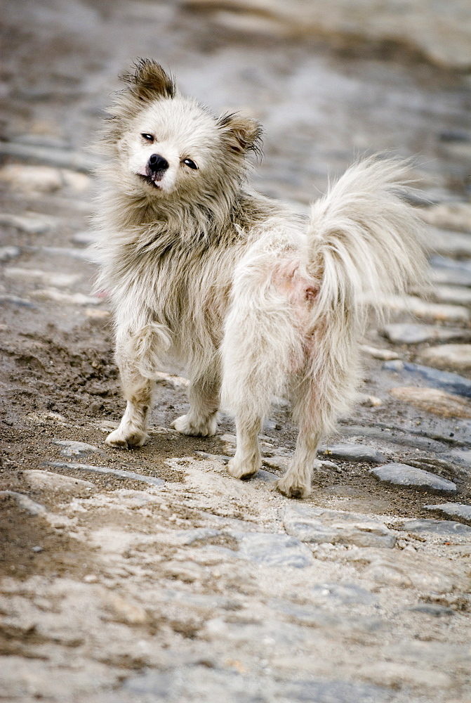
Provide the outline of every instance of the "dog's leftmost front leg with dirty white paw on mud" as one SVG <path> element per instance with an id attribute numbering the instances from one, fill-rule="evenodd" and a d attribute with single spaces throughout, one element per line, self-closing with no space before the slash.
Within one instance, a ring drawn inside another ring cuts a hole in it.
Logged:
<path id="1" fill-rule="evenodd" d="M 154 404 L 155 382 L 142 376 L 135 359 L 126 354 L 126 346 L 118 344 L 117 362 L 121 386 L 127 401 L 126 411 L 117 430 L 105 439 L 105 444 L 117 449 L 142 446 L 147 439 L 147 421 Z"/>

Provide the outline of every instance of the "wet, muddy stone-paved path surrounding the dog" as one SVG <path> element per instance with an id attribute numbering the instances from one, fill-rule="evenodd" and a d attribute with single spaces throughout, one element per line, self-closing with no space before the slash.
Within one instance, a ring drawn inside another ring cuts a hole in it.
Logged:
<path id="1" fill-rule="evenodd" d="M 25 5 L 29 19 L 7 17 L 0 142 L 0 700 L 470 703 L 469 84 L 288 39 L 274 54 L 270 37 L 222 25 L 215 39 L 194 8 Z M 260 117 L 256 187 L 297 207 L 355 149 L 425 156 L 414 204 L 431 290 L 371 323 L 358 403 L 324 438 L 305 501 L 274 491 L 296 441 L 284 399 L 248 482 L 225 468 L 230 417 L 209 439 L 168 429 L 187 408 L 180 376 L 161 374 L 142 449 L 104 444 L 123 402 L 107 299 L 92 292 L 85 146 L 142 53 L 215 109 Z M 390 114 L 372 115 L 382 91 Z"/>

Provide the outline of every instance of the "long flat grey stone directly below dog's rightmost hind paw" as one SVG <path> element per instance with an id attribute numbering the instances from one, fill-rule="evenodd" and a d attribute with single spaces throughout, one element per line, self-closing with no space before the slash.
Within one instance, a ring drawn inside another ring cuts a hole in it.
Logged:
<path id="1" fill-rule="evenodd" d="M 286 532 L 303 542 L 388 548 L 396 542 L 382 522 L 342 510 L 290 505 L 284 510 L 283 522 Z"/>

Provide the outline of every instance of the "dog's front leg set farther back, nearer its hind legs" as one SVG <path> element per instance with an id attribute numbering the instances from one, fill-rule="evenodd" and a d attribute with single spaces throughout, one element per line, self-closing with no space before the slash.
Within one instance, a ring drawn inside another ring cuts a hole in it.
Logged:
<path id="1" fill-rule="evenodd" d="M 199 378 L 188 390 L 190 411 L 173 420 L 171 427 L 182 434 L 196 437 L 211 437 L 218 426 L 219 382 L 211 378 Z"/>

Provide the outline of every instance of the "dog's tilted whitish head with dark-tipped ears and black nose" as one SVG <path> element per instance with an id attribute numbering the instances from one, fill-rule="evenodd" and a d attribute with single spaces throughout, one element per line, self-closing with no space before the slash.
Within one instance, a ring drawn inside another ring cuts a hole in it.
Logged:
<path id="1" fill-rule="evenodd" d="M 141 60 L 122 78 L 127 87 L 110 108 L 104 138 L 105 150 L 117 159 L 115 182 L 121 179 L 126 192 L 198 200 L 221 186 L 240 186 L 247 153 L 260 151 L 256 120 L 213 117 L 181 96 L 173 78 L 152 60 Z"/>

